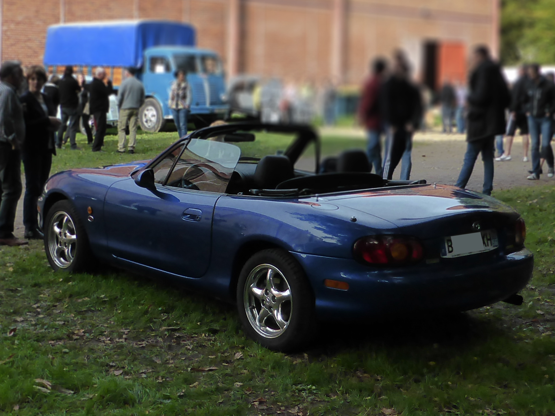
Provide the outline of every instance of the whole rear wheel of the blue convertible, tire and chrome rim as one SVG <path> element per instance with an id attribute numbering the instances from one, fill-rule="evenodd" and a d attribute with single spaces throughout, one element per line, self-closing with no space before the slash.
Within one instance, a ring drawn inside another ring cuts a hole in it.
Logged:
<path id="1" fill-rule="evenodd" d="M 241 270 L 239 318 L 245 333 L 266 348 L 287 352 L 306 346 L 315 332 L 314 303 L 305 272 L 284 250 L 260 251 Z"/>

